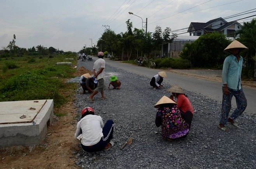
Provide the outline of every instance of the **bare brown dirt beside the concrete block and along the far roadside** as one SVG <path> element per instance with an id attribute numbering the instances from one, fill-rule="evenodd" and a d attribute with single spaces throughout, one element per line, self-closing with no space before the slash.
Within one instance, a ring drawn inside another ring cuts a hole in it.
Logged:
<path id="1" fill-rule="evenodd" d="M 221 82 L 221 77 L 212 73 L 204 75 L 197 73 L 198 70 L 167 70 L 173 73 L 197 77 L 201 79 Z M 84 73 L 92 72 L 81 67 L 74 73 L 75 76 L 81 76 Z M 243 82 L 244 85 L 256 88 L 255 81 Z M 79 86 L 78 86 L 79 87 Z M 72 87 L 69 90 L 62 91 L 69 102 L 61 108 L 54 109 L 55 116 L 51 126 L 47 129 L 41 145 L 30 147 L 9 147 L 0 150 L 0 168 L 1 169 L 77 169 L 76 153 L 80 150 L 78 140 L 74 139 L 76 130 L 77 114 L 73 105 L 75 101 L 74 94 L 76 90 Z"/>

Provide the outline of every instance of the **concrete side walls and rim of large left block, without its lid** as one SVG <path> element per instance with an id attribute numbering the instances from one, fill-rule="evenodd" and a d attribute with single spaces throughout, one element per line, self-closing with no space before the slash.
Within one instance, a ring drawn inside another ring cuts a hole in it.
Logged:
<path id="1" fill-rule="evenodd" d="M 21 104 L 21 107 L 26 105 L 24 103 L 22 105 L 20 101 L 16 103 Z M 8 107 L 8 104 L 6 106 Z M 12 107 L 10 107 L 11 109 Z M 40 144 L 47 133 L 47 123 L 50 124 L 52 122 L 53 114 L 54 102 L 50 99 L 46 100 L 32 122 L 0 124 L 0 148 L 14 145 L 28 146 Z"/>

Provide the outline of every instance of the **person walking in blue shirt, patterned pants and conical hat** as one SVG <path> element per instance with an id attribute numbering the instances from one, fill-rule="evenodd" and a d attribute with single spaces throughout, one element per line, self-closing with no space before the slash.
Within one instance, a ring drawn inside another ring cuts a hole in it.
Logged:
<path id="1" fill-rule="evenodd" d="M 222 131 L 228 131 L 225 127 L 227 123 L 230 123 L 236 128 L 240 128 L 234 120 L 244 112 L 247 106 L 247 100 L 241 85 L 243 58 L 240 56 L 240 51 L 246 49 L 248 49 L 246 46 L 235 40 L 224 50 L 229 52 L 230 55 L 225 58 L 222 69 L 223 97 L 220 123 L 218 124 L 218 128 Z M 228 118 L 233 96 L 235 96 L 237 108 Z"/>

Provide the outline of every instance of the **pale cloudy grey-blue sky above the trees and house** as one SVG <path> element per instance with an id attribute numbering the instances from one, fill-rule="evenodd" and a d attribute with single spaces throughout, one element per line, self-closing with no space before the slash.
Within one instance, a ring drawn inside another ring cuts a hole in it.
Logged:
<path id="1" fill-rule="evenodd" d="M 106 29 L 116 34 L 125 32 L 128 19 L 133 28 L 145 29 L 147 18 L 148 32 L 160 26 L 162 30 L 170 27 L 173 33 L 189 35 L 184 28 L 190 22 L 241 13 L 225 20 L 242 24 L 256 17 L 254 11 L 255 0 L 0 0 L 0 48 L 6 47 L 15 34 L 16 45 L 21 48 L 41 44 L 79 51 L 83 46 L 96 45 Z"/>

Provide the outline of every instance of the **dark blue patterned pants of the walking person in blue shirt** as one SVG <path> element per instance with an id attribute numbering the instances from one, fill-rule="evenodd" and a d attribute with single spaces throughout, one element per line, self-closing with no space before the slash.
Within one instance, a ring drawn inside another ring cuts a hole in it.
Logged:
<path id="1" fill-rule="evenodd" d="M 239 117 L 244 112 L 247 106 L 247 100 L 246 100 L 246 97 L 244 96 L 244 91 L 242 88 L 237 91 L 232 89 L 228 89 L 228 90 L 229 90 L 229 94 L 225 95 L 223 93 L 223 97 L 222 97 L 220 124 L 223 124 L 223 125 L 226 125 L 228 122 L 228 114 L 231 109 L 231 100 L 233 96 L 235 96 L 235 101 L 237 102 L 237 108 L 231 114 L 230 116 L 231 119 L 234 120 L 237 117 Z M 222 87 L 222 92 L 223 92 L 223 87 Z"/>

